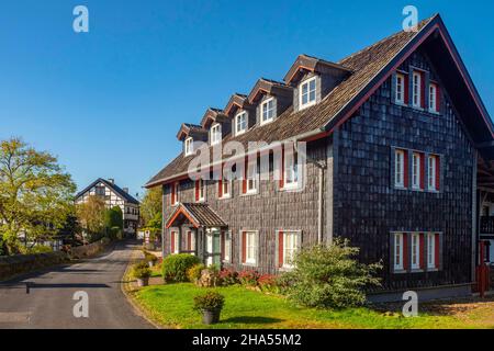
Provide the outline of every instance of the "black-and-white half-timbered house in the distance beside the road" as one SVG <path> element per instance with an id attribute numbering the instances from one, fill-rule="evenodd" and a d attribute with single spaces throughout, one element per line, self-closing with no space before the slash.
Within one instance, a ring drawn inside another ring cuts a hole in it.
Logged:
<path id="1" fill-rule="evenodd" d="M 99 178 L 76 195 L 76 204 L 85 203 L 89 196 L 103 197 L 109 208 L 120 206 L 123 212 L 125 234 L 137 233 L 139 202 L 128 193 L 128 189 L 117 186 L 113 179 Z"/>

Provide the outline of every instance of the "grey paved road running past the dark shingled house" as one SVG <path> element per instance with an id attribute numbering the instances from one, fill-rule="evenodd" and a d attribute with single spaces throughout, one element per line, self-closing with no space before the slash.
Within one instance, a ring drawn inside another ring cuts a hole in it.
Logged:
<path id="1" fill-rule="evenodd" d="M 0 283 L 0 328 L 144 329 L 121 290 L 122 275 L 137 247 L 119 244 L 111 252 L 77 264 Z M 25 283 L 31 282 L 30 294 Z M 89 318 L 74 317 L 76 292 L 89 296 Z"/>

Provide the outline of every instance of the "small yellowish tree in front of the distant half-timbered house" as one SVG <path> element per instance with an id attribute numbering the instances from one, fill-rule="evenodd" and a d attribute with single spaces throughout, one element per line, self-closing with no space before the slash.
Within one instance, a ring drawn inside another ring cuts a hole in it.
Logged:
<path id="1" fill-rule="evenodd" d="M 77 205 L 77 218 L 90 235 L 90 241 L 103 234 L 105 210 L 104 200 L 100 196 L 89 196 L 85 203 Z"/>

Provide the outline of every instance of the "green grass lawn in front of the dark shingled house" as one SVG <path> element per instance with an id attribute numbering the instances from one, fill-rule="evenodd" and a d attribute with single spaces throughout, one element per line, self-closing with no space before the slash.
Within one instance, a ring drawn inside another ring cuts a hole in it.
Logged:
<path id="1" fill-rule="evenodd" d="M 295 307 L 283 297 L 266 295 L 242 286 L 216 288 L 225 296 L 222 321 L 209 328 L 217 329 L 328 329 L 328 328 L 494 328 L 479 320 L 476 313 L 422 313 L 416 318 L 404 318 L 398 313 L 370 308 L 318 310 Z M 202 329 L 201 316 L 193 312 L 193 297 L 204 293 L 193 284 L 155 285 L 133 293 L 137 303 L 158 324 L 169 328 Z"/>

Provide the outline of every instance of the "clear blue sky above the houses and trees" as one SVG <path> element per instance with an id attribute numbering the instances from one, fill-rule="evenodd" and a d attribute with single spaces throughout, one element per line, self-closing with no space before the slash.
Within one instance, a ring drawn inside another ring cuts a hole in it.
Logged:
<path id="1" fill-rule="evenodd" d="M 494 115 L 492 1 L 413 1 L 441 13 Z M 72 9 L 90 32 L 72 31 Z M 407 1 L 5 0 L 0 138 L 59 157 L 79 189 L 115 178 L 133 193 L 181 148 L 182 122 L 282 79 L 301 53 L 340 58 L 401 29 Z"/>

